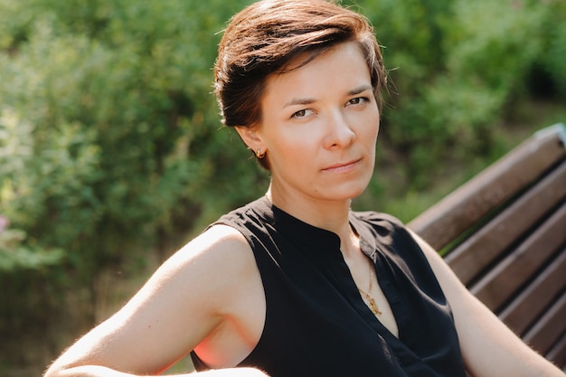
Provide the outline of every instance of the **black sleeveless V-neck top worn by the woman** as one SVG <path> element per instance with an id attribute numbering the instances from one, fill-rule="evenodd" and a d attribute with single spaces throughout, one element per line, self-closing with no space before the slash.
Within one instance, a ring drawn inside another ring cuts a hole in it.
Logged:
<path id="1" fill-rule="evenodd" d="M 339 237 L 265 197 L 217 221 L 250 242 L 265 290 L 259 343 L 239 366 L 272 377 L 464 377 L 452 313 L 418 244 L 400 221 L 351 212 L 363 253 L 395 316 L 399 338 L 363 302 Z M 207 369 L 195 353 L 197 370 Z"/>

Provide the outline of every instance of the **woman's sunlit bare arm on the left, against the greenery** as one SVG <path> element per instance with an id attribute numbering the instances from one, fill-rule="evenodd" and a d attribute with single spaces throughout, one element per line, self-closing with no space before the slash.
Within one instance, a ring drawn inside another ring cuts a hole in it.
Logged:
<path id="1" fill-rule="evenodd" d="M 253 312 L 242 308 L 250 306 L 250 291 L 257 293 L 258 278 L 241 234 L 226 226 L 212 227 L 165 261 L 118 313 L 62 353 L 45 377 L 156 375 L 212 334 L 242 334 L 243 339 L 236 340 L 245 353 L 245 335 L 250 333 L 245 319 Z M 231 373 L 265 375 L 248 368 Z"/>

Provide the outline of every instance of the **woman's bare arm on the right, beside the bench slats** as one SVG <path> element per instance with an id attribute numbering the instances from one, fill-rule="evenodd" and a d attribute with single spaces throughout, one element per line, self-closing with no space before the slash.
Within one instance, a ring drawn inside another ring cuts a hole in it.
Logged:
<path id="1" fill-rule="evenodd" d="M 468 372 L 475 377 L 564 377 L 474 297 L 436 250 L 414 232 L 411 234 L 429 259 L 452 307 Z"/>

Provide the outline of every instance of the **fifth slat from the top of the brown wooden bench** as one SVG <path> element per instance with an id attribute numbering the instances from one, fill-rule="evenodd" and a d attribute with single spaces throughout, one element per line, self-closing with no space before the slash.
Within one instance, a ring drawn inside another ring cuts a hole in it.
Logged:
<path id="1" fill-rule="evenodd" d="M 566 331 L 566 321 L 564 321 L 564 318 L 566 318 L 566 293 L 524 335 L 524 342 L 530 344 L 539 353 L 547 353 Z"/>

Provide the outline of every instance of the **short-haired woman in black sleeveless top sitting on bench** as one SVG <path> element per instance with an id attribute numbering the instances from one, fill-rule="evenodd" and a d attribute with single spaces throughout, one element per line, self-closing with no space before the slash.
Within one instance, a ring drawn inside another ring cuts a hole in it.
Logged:
<path id="1" fill-rule="evenodd" d="M 374 165 L 385 71 L 359 14 L 324 0 L 234 16 L 215 67 L 223 122 L 269 169 L 55 376 L 559 376 L 389 215 L 352 212 Z"/>

